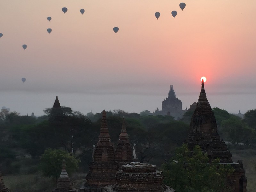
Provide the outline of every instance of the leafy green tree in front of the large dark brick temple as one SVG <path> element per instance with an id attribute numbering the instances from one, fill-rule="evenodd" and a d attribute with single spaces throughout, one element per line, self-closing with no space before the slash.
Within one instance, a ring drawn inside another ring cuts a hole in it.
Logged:
<path id="1" fill-rule="evenodd" d="M 195 146 L 191 156 L 188 146 L 183 144 L 162 165 L 164 183 L 176 192 L 226 192 L 228 176 L 234 169 L 230 164 L 219 163 L 219 159 L 210 162 L 199 146 Z"/>

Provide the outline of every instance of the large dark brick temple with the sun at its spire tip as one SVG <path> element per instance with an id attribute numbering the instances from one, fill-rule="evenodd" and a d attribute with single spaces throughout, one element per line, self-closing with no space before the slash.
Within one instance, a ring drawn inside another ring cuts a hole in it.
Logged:
<path id="1" fill-rule="evenodd" d="M 247 178 L 242 160 L 232 161 L 228 146 L 217 132 L 217 124 L 211 106 L 206 98 L 204 81 L 195 111 L 190 122 L 190 133 L 186 141 L 190 151 L 199 145 L 208 154 L 209 159 L 220 159 L 221 164 L 230 164 L 235 172 L 229 177 L 229 187 L 232 192 L 246 192 Z"/>

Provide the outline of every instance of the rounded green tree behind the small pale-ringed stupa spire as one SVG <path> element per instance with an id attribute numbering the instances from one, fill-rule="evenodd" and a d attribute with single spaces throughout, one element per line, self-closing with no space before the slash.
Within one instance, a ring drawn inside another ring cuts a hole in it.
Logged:
<path id="1" fill-rule="evenodd" d="M 70 175 L 78 169 L 77 160 L 71 153 L 59 149 L 46 149 L 40 158 L 40 169 L 45 176 L 53 177 L 56 181 L 62 171 L 62 161 L 66 161 L 66 170 Z"/>

